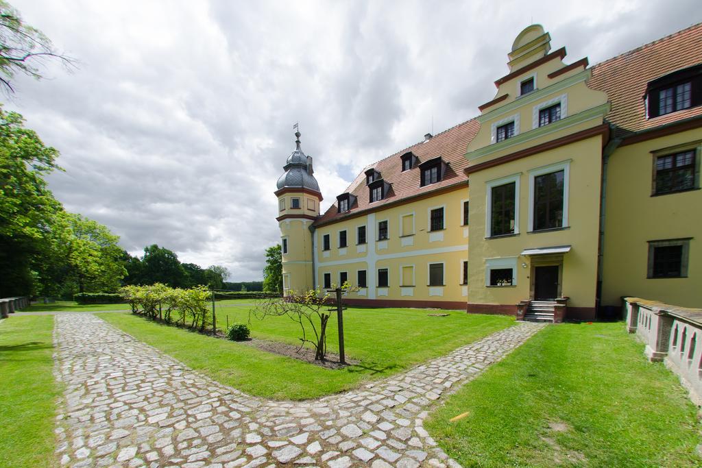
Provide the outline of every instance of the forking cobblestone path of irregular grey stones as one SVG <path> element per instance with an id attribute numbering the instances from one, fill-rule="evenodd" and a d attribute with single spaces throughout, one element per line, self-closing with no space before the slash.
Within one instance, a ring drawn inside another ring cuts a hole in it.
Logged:
<path id="1" fill-rule="evenodd" d="M 63 466 L 444 467 L 428 410 L 534 335 L 521 323 L 399 375 L 314 401 L 220 385 L 91 314 L 59 314 Z"/>

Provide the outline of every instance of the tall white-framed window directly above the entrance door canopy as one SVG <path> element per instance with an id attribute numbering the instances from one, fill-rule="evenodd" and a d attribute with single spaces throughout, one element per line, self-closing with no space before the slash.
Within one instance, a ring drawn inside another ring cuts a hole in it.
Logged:
<path id="1" fill-rule="evenodd" d="M 534 177 L 534 230 L 563 227 L 564 171 Z"/>

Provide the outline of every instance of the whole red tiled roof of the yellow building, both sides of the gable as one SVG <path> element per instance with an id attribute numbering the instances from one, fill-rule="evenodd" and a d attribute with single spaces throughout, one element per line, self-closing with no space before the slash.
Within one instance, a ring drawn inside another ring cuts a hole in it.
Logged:
<path id="1" fill-rule="evenodd" d="M 702 115 L 702 106 L 699 106 L 655 119 L 647 119 L 643 99 L 649 81 L 700 62 L 702 62 L 702 23 L 594 65 L 588 86 L 604 91 L 609 96 L 611 112 L 607 115 L 607 121 L 615 126 L 614 135 L 618 137 L 632 135 L 637 131 Z M 345 190 L 357 196 L 357 201 L 351 210 L 339 214 L 335 203 L 326 210 L 324 215 L 317 218 L 314 225 L 326 225 L 329 222 L 352 218 L 360 212 L 395 203 L 411 196 L 428 194 L 451 185 L 468 182 L 468 177 L 463 172 L 463 169 L 468 166 L 468 161 L 463 155 L 479 128 L 480 125 L 475 119 L 465 121 L 435 135 L 426 142 L 403 149 L 364 168 L 364 171 Z M 449 163 L 444 180 L 420 187 L 420 170 L 416 165 L 410 171 L 402 172 L 401 156 L 407 152 L 413 152 L 418 157 L 419 163 L 441 156 Z M 369 189 L 366 186 L 364 174 L 370 168 L 379 171 L 383 180 L 390 184 L 390 190 L 385 199 L 374 203 L 369 202 Z"/>

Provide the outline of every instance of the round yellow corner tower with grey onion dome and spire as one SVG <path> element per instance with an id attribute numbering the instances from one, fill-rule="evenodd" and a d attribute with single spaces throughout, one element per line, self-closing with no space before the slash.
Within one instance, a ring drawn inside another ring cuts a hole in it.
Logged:
<path id="1" fill-rule="evenodd" d="M 288 156 L 285 172 L 278 179 L 278 225 L 283 253 L 283 291 L 305 293 L 314 289 L 313 247 L 310 225 L 319 216 L 322 193 L 312 171 L 312 156 L 300 149 L 300 132 L 295 133 L 296 148 Z"/>

